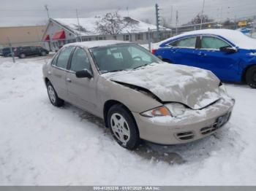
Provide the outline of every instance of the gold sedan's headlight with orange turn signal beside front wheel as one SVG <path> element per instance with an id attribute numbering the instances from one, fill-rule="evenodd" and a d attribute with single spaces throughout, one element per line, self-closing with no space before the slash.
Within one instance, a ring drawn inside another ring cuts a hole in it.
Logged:
<path id="1" fill-rule="evenodd" d="M 148 110 L 141 113 L 144 117 L 162 117 L 170 116 L 177 117 L 178 115 L 184 114 L 186 112 L 186 106 L 178 103 L 165 104 L 164 106 L 159 106 L 155 109 Z"/>

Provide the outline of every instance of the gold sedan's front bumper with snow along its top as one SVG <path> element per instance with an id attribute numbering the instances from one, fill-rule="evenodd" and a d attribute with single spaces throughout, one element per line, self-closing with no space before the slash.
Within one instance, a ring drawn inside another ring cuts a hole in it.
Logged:
<path id="1" fill-rule="evenodd" d="M 221 98 L 201 110 L 191 110 L 179 117 L 143 117 L 133 112 L 140 138 L 157 144 L 182 144 L 209 136 L 230 119 L 234 99 Z"/>

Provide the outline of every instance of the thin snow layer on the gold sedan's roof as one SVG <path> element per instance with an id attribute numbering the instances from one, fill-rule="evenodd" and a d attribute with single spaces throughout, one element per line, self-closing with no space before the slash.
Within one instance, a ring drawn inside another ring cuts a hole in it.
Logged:
<path id="1" fill-rule="evenodd" d="M 66 44 L 64 47 L 80 46 L 80 47 L 91 48 L 91 47 L 103 47 L 111 44 L 123 44 L 123 43 L 129 43 L 129 42 L 118 41 L 118 40 L 100 40 L 100 41 L 74 42 L 74 43 Z"/>

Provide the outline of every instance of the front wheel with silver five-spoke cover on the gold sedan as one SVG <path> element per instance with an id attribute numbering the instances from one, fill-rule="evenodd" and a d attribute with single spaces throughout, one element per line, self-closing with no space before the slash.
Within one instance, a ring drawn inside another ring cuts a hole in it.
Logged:
<path id="1" fill-rule="evenodd" d="M 108 111 L 108 127 L 113 138 L 126 149 L 135 149 L 140 143 L 140 136 L 135 120 L 130 112 L 117 104 Z"/>

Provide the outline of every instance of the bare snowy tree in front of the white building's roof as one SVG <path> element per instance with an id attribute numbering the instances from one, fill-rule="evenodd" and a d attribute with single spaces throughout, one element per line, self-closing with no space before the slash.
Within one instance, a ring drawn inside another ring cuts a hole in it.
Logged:
<path id="1" fill-rule="evenodd" d="M 97 24 L 97 31 L 102 34 L 117 35 L 127 26 L 133 27 L 138 23 L 130 17 L 121 17 L 118 12 L 108 12 L 104 17 L 101 17 Z"/>

